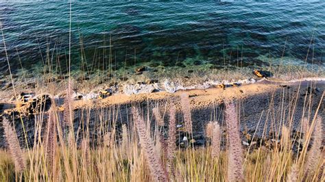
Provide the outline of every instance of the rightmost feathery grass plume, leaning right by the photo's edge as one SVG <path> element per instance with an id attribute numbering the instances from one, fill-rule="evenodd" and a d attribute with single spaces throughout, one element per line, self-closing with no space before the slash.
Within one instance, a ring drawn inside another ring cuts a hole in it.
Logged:
<path id="1" fill-rule="evenodd" d="M 318 161 L 322 155 L 322 151 L 320 150 L 322 146 L 322 137 L 322 117 L 318 116 L 315 120 L 315 128 L 313 131 L 313 144 L 311 145 L 309 153 L 306 155 L 306 163 L 304 164 L 305 175 L 313 174 L 319 164 Z"/>

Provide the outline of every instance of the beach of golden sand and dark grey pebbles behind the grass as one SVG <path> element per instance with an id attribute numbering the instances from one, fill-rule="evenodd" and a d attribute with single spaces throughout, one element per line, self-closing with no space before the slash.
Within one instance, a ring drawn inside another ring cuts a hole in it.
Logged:
<path id="1" fill-rule="evenodd" d="M 83 120 L 88 120 L 92 136 L 97 135 L 97 127 L 104 120 L 115 120 L 119 123 L 117 129 L 121 129 L 122 124 L 129 125 L 132 118 L 131 106 L 136 105 L 141 108 L 143 116 L 153 117 L 152 108 L 159 106 L 163 113 L 165 123 L 169 122 L 169 103 L 173 101 L 176 109 L 178 124 L 182 124 L 182 105 L 180 95 L 186 93 L 189 96 L 191 119 L 193 123 L 193 135 L 198 144 L 204 144 L 202 135 L 205 132 L 206 123 L 216 120 L 224 125 L 224 101 L 232 99 L 237 103 L 237 112 L 240 120 L 240 131 L 248 132 L 250 135 L 263 135 L 263 127 L 267 133 L 272 129 L 277 131 L 280 125 L 291 125 L 292 131 L 297 131 L 302 118 L 311 118 L 317 112 L 320 105 L 319 116 L 323 116 L 324 111 L 324 90 L 325 81 L 301 81 L 300 83 L 265 83 L 259 81 L 239 87 L 225 89 L 208 88 L 203 90 L 183 90 L 174 93 L 154 92 L 148 94 L 116 94 L 106 99 L 96 99 L 88 101 L 73 101 L 75 132 Z M 309 91 L 310 90 L 310 91 Z M 62 100 L 61 100 L 61 103 Z M 306 104 L 306 105 L 305 105 Z M 16 107 L 15 107 L 16 108 Z M 294 112 L 291 112 L 291 108 Z M 306 110 L 307 109 L 307 110 Z M 7 110 L 8 111 L 8 110 Z M 15 110 L 11 110 L 12 113 Z M 305 114 L 306 113 L 306 114 Z M 58 114 L 63 117 L 64 112 L 58 109 Z M 99 115 L 104 117 L 99 119 Z M 165 115 L 166 114 L 166 115 Z M 41 114 L 47 120 L 47 112 Z M 324 116 L 323 116 L 324 117 Z M 0 122 L 2 122 L 0 118 Z M 30 133 L 34 133 L 34 118 L 22 116 L 24 125 Z M 104 120 L 103 120 L 104 119 Z M 324 123 L 324 120 L 322 121 Z M 14 118 L 16 130 L 23 135 L 21 119 Z M 282 124 L 281 124 L 282 123 Z M 291 123 L 291 124 L 289 124 Z M 97 126 L 97 127 L 96 127 Z M 0 129 L 0 134 L 1 134 Z M 265 134 L 266 135 L 266 134 Z M 268 135 L 268 134 L 267 134 Z M 33 138 L 33 135 L 29 136 Z M 1 137 L 0 137 L 1 138 Z M 323 136 L 323 140 L 325 136 Z M 96 140 L 91 138 L 91 140 Z M 325 140 L 324 140 L 325 141 Z M 24 144 L 22 144 L 24 145 Z M 0 148 L 3 146 L 0 142 Z"/>

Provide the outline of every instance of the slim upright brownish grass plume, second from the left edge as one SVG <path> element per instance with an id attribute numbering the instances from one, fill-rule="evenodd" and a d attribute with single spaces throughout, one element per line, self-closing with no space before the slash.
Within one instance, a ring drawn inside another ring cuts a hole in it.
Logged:
<path id="1" fill-rule="evenodd" d="M 56 151 L 56 125 L 54 121 L 53 110 L 49 110 L 49 119 L 47 121 L 47 130 L 45 135 L 45 159 L 47 161 L 48 171 L 54 174 L 55 151 Z"/>

